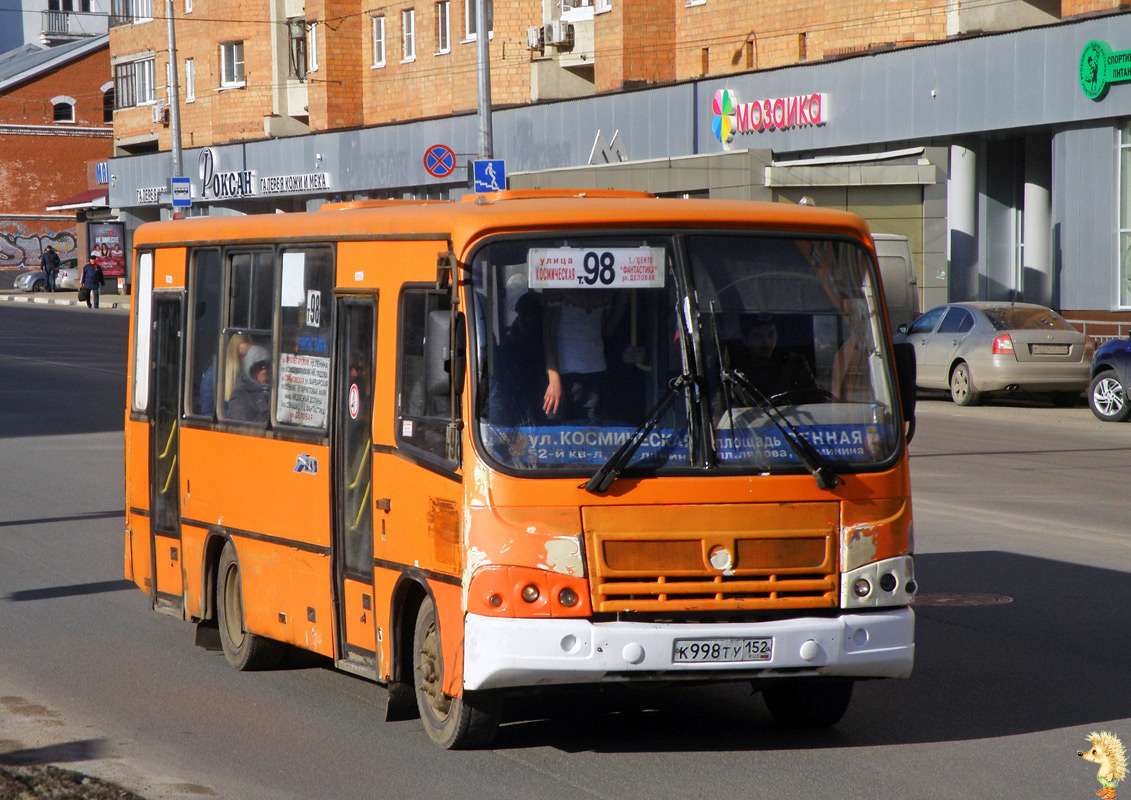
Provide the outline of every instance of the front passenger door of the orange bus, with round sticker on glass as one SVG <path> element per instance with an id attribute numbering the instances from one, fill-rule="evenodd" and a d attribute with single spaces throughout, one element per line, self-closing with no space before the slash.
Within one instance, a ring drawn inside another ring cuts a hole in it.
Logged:
<path id="1" fill-rule="evenodd" d="M 373 603 L 375 298 L 339 298 L 334 392 L 334 582 L 338 665 L 377 677 Z"/>

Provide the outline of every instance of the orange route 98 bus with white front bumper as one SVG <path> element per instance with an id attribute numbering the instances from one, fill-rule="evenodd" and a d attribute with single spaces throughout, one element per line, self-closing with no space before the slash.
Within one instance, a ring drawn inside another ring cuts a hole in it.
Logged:
<path id="1" fill-rule="evenodd" d="M 444 748 L 550 685 L 815 726 L 910 673 L 914 375 L 858 217 L 511 191 L 133 249 L 126 575 L 235 668 L 320 653 Z"/>

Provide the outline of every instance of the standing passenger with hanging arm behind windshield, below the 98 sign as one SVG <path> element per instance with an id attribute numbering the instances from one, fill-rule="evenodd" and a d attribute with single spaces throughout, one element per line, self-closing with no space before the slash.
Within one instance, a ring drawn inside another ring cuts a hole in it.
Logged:
<path id="1" fill-rule="evenodd" d="M 546 392 L 542 410 L 553 421 L 595 420 L 605 385 L 605 338 L 624 312 L 623 292 L 547 290 L 543 345 Z"/>

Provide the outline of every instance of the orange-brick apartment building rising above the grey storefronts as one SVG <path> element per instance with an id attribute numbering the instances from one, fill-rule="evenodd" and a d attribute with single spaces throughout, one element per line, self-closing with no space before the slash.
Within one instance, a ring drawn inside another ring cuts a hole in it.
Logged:
<path id="1" fill-rule="evenodd" d="M 1055 7 L 1055 8 L 1054 8 Z M 161 3 L 111 19 L 118 154 L 169 150 Z M 475 0 L 176 0 L 184 147 L 476 109 Z M 1124 9 L 1121 0 L 543 0 L 493 8 L 495 107 L 737 75 Z M 158 106 L 157 112 L 152 106 Z"/>

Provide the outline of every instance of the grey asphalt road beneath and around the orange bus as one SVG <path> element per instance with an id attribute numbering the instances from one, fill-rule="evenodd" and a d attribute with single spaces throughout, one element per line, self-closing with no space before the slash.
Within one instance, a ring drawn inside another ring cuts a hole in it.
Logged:
<path id="1" fill-rule="evenodd" d="M 481 752 L 317 660 L 239 673 L 122 574 L 127 317 L 0 303 L 0 763 L 187 798 L 1089 798 L 1131 743 L 1131 425 L 920 404 L 917 659 L 835 730 L 742 686 L 524 705 Z"/>

